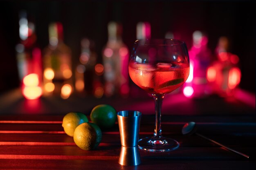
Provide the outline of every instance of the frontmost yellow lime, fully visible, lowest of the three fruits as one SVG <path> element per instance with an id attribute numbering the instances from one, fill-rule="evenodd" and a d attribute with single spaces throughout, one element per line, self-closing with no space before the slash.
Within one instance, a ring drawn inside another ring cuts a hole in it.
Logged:
<path id="1" fill-rule="evenodd" d="M 83 150 L 97 148 L 101 142 L 102 133 L 97 124 L 83 123 L 76 127 L 74 131 L 74 142 Z"/>

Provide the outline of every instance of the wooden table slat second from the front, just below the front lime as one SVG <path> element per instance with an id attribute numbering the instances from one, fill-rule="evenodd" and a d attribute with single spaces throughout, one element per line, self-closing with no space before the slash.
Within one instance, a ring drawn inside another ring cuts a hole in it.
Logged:
<path id="1" fill-rule="evenodd" d="M 244 150 L 251 149 L 250 153 L 255 152 L 256 149 L 243 148 Z M 241 149 L 240 149 L 241 150 Z M 61 159 L 62 156 L 74 156 L 73 159 L 78 159 L 77 156 L 84 156 L 83 159 L 88 159 L 87 157 L 95 158 L 115 156 L 118 157 L 120 153 L 120 146 L 99 146 L 97 150 L 85 151 L 77 146 L 0 146 L 0 159 L 39 159 L 38 155 L 43 157 L 49 157 L 51 159 Z M 248 154 L 248 153 L 246 153 Z M 7 155 L 7 156 L 6 156 Z M 20 156 L 18 156 L 20 155 Z M 22 156 L 27 155 L 27 156 Z M 237 155 L 233 152 L 225 150 L 223 148 L 191 148 L 191 147 L 180 147 L 173 152 L 146 152 L 140 150 L 141 157 L 147 158 L 163 158 L 163 159 L 176 159 L 176 160 L 244 160 L 243 157 Z M 249 154 L 248 154 L 249 155 Z M 86 157 L 87 156 L 87 157 Z M 82 158 L 82 157 L 81 157 Z M 63 157 L 65 159 L 65 157 Z M 71 159 L 71 158 L 70 158 Z M 99 158 L 100 159 L 100 158 Z"/>

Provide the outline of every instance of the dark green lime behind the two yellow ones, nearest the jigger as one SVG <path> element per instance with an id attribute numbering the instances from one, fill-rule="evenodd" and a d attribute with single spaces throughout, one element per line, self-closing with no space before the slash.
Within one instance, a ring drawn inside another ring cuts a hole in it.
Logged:
<path id="1" fill-rule="evenodd" d="M 100 104 L 92 109 L 90 118 L 100 128 L 110 128 L 115 125 L 117 111 L 108 104 Z"/>

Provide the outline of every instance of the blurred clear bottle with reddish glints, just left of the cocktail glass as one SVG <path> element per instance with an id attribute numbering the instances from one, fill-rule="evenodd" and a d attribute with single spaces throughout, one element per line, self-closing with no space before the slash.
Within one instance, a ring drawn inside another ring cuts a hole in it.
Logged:
<path id="1" fill-rule="evenodd" d="M 121 38 L 122 26 L 116 22 L 108 24 L 108 42 L 103 48 L 104 94 L 106 97 L 128 97 L 129 51 Z"/>

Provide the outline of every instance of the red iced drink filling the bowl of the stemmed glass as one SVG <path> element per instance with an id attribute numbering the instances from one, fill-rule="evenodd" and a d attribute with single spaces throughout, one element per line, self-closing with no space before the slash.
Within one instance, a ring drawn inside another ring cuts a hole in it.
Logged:
<path id="1" fill-rule="evenodd" d="M 150 94 L 166 94 L 186 81 L 189 64 L 158 63 L 152 66 L 130 62 L 129 74 L 132 81 L 144 91 Z"/>

